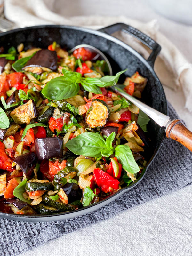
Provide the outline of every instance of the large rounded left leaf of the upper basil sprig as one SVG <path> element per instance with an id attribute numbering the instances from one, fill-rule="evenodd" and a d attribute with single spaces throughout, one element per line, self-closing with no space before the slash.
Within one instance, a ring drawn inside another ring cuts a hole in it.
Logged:
<path id="1" fill-rule="evenodd" d="M 78 92 L 79 84 L 76 82 L 72 82 L 71 79 L 68 79 L 65 76 L 53 78 L 46 84 L 46 86 L 42 90 L 42 94 L 44 95 L 44 97 L 50 100 L 68 99 L 75 96 Z"/>

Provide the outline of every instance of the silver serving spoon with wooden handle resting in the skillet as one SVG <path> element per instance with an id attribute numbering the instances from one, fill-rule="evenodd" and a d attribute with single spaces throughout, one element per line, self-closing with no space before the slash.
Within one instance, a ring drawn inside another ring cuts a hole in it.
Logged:
<path id="1" fill-rule="evenodd" d="M 84 47 L 88 49 L 94 54 L 94 58 L 92 60 L 102 59 L 105 60 L 108 65 L 109 75 L 112 76 L 112 68 L 107 59 L 107 57 L 96 47 L 88 45 L 88 44 L 80 44 L 71 49 L 71 52 L 75 51 L 78 48 Z M 128 93 L 124 92 L 118 85 L 114 85 L 111 87 L 114 92 L 119 93 L 125 99 L 131 101 L 135 104 L 138 108 L 140 108 L 145 114 L 147 114 L 151 119 L 153 119 L 159 126 L 165 127 L 165 133 L 167 138 L 176 140 L 180 144 L 184 145 L 190 151 L 192 151 L 192 132 L 185 127 L 180 119 L 173 119 L 161 112 L 157 111 L 154 108 L 149 107 L 145 103 L 141 102 L 140 100 L 135 99 Z"/>

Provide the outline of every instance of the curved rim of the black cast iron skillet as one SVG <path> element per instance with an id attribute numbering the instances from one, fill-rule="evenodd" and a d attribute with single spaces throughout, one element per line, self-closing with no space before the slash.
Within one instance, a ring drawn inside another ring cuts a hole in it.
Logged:
<path id="1" fill-rule="evenodd" d="M 131 46 L 127 45 L 123 41 L 121 41 L 121 40 L 119 40 L 119 39 L 117 39 L 117 38 L 115 38 L 111 35 L 108 35 L 104 32 L 94 30 L 94 29 L 91 29 L 91 28 L 84 28 L 84 27 L 78 27 L 78 26 L 38 25 L 38 26 L 30 26 L 30 27 L 23 27 L 23 28 L 16 28 L 16 29 L 9 30 L 7 32 L 1 33 L 0 38 L 2 36 L 6 36 L 6 35 L 9 35 L 9 34 L 12 34 L 12 33 L 25 31 L 25 30 L 29 30 L 29 29 L 39 29 L 39 28 L 40 29 L 41 28 L 60 28 L 60 29 L 62 29 L 62 28 L 66 29 L 67 28 L 67 29 L 73 29 L 73 30 L 88 32 L 90 34 L 94 34 L 94 35 L 97 35 L 97 36 L 104 37 L 104 38 L 108 39 L 109 41 L 112 41 L 112 42 L 122 46 L 123 48 L 125 48 L 129 52 L 131 52 L 133 55 L 135 55 L 145 65 L 145 67 L 151 72 L 152 76 L 158 81 L 159 86 L 160 86 L 160 88 L 161 88 L 161 90 L 164 94 L 164 97 L 163 97 L 164 111 L 162 113 L 165 114 L 165 115 L 168 115 L 167 100 L 166 100 L 166 96 L 165 96 L 165 93 L 164 93 L 164 89 L 163 89 L 163 86 L 162 86 L 159 78 L 157 77 L 153 67 L 150 65 L 150 63 L 144 57 L 142 57 L 140 55 L 140 53 L 138 53 L 136 50 L 134 50 Z M 132 185 L 120 189 L 115 194 L 105 198 L 104 200 L 102 200 L 98 203 L 95 203 L 95 204 L 85 206 L 81 209 L 78 209 L 78 210 L 75 210 L 75 211 L 72 211 L 72 212 L 61 212 L 61 213 L 54 213 L 54 214 L 49 214 L 49 215 L 40 215 L 40 214 L 36 214 L 36 215 L 18 215 L 18 214 L 15 214 L 15 213 L 0 212 L 0 217 L 5 218 L 5 219 L 10 219 L 10 220 L 27 221 L 27 222 L 58 221 L 58 220 L 70 219 L 70 218 L 74 218 L 74 217 L 77 217 L 77 216 L 81 216 L 81 215 L 93 212 L 93 211 L 101 208 L 102 206 L 112 202 L 113 200 L 118 198 L 120 195 L 124 194 L 126 191 L 130 190 L 131 188 L 135 187 L 137 184 L 140 183 L 140 181 L 143 179 L 145 173 L 147 172 L 148 167 L 150 166 L 150 164 L 155 159 L 156 154 L 159 151 L 159 149 L 160 149 L 160 147 L 163 143 L 163 140 L 164 140 L 164 137 L 165 137 L 165 127 L 160 127 L 157 136 L 159 136 L 161 138 L 161 140 L 157 143 L 155 152 L 154 152 L 153 156 L 151 157 L 151 159 L 148 161 L 147 166 L 143 169 L 140 177 Z M 80 212 L 80 214 L 79 214 L 79 212 Z"/>

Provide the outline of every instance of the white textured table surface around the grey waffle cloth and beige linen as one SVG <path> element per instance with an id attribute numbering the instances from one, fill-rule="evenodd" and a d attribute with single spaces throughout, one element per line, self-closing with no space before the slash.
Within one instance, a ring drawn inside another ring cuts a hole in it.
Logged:
<path id="1" fill-rule="evenodd" d="M 66 8 L 57 1 L 55 11 L 64 15 L 125 15 L 141 21 L 157 19 L 166 35 L 192 62 L 192 27 L 176 23 L 156 14 L 148 1 L 73 0 Z M 182 92 L 164 88 L 169 102 L 189 129 L 192 118 L 184 108 Z M 178 170 L 179 171 L 179 170 Z M 192 185 L 146 204 L 139 205 L 91 227 L 49 241 L 20 256 L 58 255 L 192 255 Z"/>

